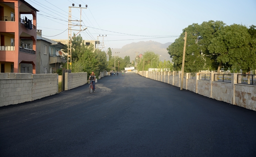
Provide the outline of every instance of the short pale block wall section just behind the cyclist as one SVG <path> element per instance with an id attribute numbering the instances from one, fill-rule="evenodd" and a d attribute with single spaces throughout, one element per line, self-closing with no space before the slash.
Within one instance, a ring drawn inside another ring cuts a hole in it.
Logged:
<path id="1" fill-rule="evenodd" d="M 82 86 L 87 80 L 87 73 L 65 73 L 65 90 Z"/>

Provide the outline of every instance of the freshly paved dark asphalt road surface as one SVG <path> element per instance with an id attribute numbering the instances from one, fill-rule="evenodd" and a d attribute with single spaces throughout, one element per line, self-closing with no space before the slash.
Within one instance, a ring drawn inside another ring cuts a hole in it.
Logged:
<path id="1" fill-rule="evenodd" d="M 0 108 L 1 157 L 255 157 L 256 111 L 138 74 Z"/>

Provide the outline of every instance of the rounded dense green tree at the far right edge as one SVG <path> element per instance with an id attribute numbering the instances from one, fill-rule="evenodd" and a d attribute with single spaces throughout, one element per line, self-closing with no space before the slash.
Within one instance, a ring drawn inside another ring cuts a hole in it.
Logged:
<path id="1" fill-rule="evenodd" d="M 255 68 L 256 54 L 250 48 L 251 35 L 248 28 L 233 24 L 216 32 L 208 46 L 209 53 L 216 56 L 219 69 L 231 68 L 250 71 Z"/>

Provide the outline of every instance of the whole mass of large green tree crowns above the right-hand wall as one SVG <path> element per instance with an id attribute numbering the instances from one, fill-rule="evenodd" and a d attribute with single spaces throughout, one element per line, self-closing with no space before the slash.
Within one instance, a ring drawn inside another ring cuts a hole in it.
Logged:
<path id="1" fill-rule="evenodd" d="M 222 21 L 192 24 L 183 29 L 180 37 L 167 50 L 174 62 L 174 70 L 180 70 L 183 58 L 185 31 L 187 44 L 185 54 L 186 72 L 220 68 L 255 69 L 255 26 L 233 24 L 226 26 Z"/>

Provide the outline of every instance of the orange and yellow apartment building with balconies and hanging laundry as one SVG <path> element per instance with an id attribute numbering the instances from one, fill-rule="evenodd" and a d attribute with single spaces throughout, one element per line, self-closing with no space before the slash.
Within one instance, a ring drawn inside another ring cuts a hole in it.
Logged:
<path id="1" fill-rule="evenodd" d="M 0 0 L 1 73 L 36 73 L 37 11 L 24 0 Z"/>

